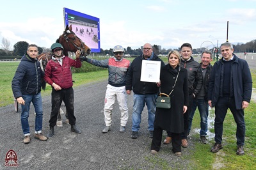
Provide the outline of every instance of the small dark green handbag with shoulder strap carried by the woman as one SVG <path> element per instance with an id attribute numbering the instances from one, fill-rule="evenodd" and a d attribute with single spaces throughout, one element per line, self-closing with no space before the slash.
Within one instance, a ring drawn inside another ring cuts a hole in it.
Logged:
<path id="1" fill-rule="evenodd" d="M 177 82 L 177 79 L 179 77 L 179 73 L 180 73 L 180 68 L 179 68 L 179 72 L 178 72 L 178 75 L 176 77 L 173 89 L 174 89 L 175 84 Z M 173 89 L 172 89 L 172 91 L 173 91 Z M 159 88 L 159 92 L 160 93 L 159 93 L 159 96 L 156 99 L 156 107 L 157 108 L 161 108 L 161 109 L 170 109 L 171 108 L 171 98 L 170 98 L 170 95 L 172 94 L 172 91 L 170 92 L 169 95 L 166 95 L 165 93 L 161 93 L 161 87 Z M 162 96 L 162 95 L 164 95 L 164 96 Z"/>

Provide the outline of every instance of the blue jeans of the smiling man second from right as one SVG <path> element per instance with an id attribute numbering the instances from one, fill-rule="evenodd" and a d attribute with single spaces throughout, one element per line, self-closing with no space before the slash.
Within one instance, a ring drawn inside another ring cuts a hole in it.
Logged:
<path id="1" fill-rule="evenodd" d="M 188 132 L 191 130 L 191 125 L 193 121 L 193 116 L 196 111 L 196 107 L 198 107 L 199 113 L 200 113 L 200 136 L 206 136 L 207 135 L 207 130 L 208 130 L 208 124 L 207 124 L 207 119 L 209 115 L 209 105 L 208 102 L 204 99 L 195 99 L 193 102 L 193 105 L 191 107 L 191 112 L 189 116 L 189 127 L 188 127 Z"/>

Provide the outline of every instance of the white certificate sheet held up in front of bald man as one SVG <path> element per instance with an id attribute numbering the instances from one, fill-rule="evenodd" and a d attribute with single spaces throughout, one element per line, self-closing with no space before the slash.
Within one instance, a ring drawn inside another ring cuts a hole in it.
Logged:
<path id="1" fill-rule="evenodd" d="M 159 82 L 161 61 L 142 60 L 140 81 Z"/>

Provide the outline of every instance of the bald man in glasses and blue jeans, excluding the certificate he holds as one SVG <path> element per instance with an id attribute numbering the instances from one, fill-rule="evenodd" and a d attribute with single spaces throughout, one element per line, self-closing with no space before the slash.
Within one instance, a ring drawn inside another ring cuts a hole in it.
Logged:
<path id="1" fill-rule="evenodd" d="M 131 138 L 136 139 L 138 137 L 138 131 L 140 130 L 141 112 L 145 104 L 148 109 L 148 131 L 149 137 L 153 137 L 154 120 L 156 114 L 156 98 L 159 88 L 157 88 L 156 82 L 143 82 L 140 81 L 141 77 L 141 64 L 143 60 L 161 61 L 161 66 L 164 66 L 162 59 L 158 58 L 154 54 L 152 45 L 145 43 L 143 46 L 143 53 L 135 58 L 126 77 L 126 93 L 131 95 L 133 91 L 133 112 L 132 112 L 132 134 Z"/>

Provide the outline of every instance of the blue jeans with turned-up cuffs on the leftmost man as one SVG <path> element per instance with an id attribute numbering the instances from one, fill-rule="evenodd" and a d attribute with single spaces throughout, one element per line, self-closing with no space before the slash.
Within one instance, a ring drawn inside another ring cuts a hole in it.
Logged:
<path id="1" fill-rule="evenodd" d="M 42 107 L 42 97 L 41 93 L 36 95 L 22 95 L 23 100 L 25 100 L 25 105 L 21 105 L 21 127 L 24 135 L 30 135 L 29 131 L 29 109 L 31 102 L 35 107 L 36 118 L 35 118 L 35 134 L 42 133 L 42 122 L 43 122 L 43 107 Z"/>

